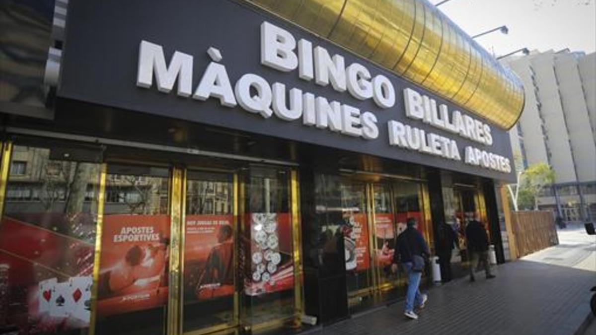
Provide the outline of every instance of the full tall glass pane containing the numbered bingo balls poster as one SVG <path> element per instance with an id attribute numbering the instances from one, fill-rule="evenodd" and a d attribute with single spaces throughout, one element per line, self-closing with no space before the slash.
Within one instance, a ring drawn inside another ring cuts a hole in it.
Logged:
<path id="1" fill-rule="evenodd" d="M 294 316 L 289 170 L 251 166 L 245 175 L 241 269 L 245 324 Z"/>

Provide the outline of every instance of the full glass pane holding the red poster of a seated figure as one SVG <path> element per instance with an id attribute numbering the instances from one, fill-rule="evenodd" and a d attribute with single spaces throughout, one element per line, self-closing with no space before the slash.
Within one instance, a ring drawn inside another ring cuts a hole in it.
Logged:
<path id="1" fill-rule="evenodd" d="M 189 171 L 184 229 L 183 331 L 234 325 L 232 180 Z"/>

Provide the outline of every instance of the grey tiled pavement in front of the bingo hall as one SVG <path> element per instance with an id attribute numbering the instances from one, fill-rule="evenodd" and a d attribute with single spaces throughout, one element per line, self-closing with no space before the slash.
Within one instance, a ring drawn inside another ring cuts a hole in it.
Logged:
<path id="1" fill-rule="evenodd" d="M 588 240 L 584 251 L 596 250 L 594 243 Z M 496 266 L 492 280 L 478 274 L 475 283 L 462 278 L 429 290 L 429 305 L 416 321 L 403 317 L 399 302 L 308 333 L 574 334 L 589 313 L 596 263 L 578 269 L 528 259 Z"/>

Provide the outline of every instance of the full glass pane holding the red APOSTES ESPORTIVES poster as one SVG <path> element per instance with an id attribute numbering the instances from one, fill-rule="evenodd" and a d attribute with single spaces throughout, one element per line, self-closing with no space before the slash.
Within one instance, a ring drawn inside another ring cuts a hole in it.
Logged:
<path id="1" fill-rule="evenodd" d="M 98 334 L 159 334 L 167 306 L 169 170 L 108 165 Z"/>

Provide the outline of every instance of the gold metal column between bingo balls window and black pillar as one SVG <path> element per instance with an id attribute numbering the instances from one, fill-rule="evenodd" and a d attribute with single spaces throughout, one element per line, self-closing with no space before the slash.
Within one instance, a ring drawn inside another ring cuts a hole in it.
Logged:
<path id="1" fill-rule="evenodd" d="M 294 247 L 294 315 L 295 321 L 300 324 L 300 318 L 304 311 L 302 300 L 302 238 L 300 238 L 300 192 L 298 185 L 298 171 L 292 169 L 290 172 L 290 200 L 291 200 L 291 222 L 292 240 Z"/>

